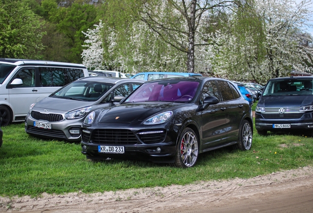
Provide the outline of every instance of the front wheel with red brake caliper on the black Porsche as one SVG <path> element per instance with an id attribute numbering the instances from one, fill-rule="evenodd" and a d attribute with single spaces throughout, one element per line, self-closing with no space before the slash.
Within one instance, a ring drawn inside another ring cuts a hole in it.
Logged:
<path id="1" fill-rule="evenodd" d="M 179 168 L 193 167 L 198 159 L 198 139 L 194 131 L 190 128 L 182 132 L 175 154 L 173 166 Z"/>

